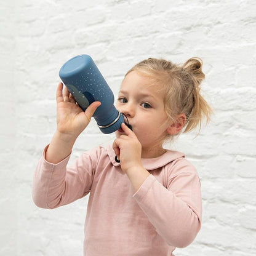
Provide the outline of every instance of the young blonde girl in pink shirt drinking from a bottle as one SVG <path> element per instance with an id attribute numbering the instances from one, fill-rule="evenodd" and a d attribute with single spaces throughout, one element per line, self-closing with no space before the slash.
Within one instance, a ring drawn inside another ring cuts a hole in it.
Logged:
<path id="1" fill-rule="evenodd" d="M 198 58 L 182 66 L 155 58 L 138 63 L 124 77 L 116 104 L 132 130 L 123 123 L 113 145 L 82 153 L 68 167 L 100 102 L 83 112 L 58 84 L 57 130 L 36 167 L 33 200 L 53 209 L 90 193 L 84 255 L 170 256 L 194 240 L 201 227 L 198 174 L 183 153 L 162 144 L 201 126 L 204 116 L 209 120 L 203 79 Z"/>

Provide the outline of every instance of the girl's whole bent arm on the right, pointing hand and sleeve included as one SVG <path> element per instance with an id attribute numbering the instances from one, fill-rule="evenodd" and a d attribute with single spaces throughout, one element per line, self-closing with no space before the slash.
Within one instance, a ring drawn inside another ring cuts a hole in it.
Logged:
<path id="1" fill-rule="evenodd" d="M 178 174 L 165 188 L 142 166 L 134 132 L 123 124 L 122 129 L 126 135 L 114 141 L 113 149 L 136 191 L 135 200 L 170 246 L 188 246 L 201 227 L 201 189 L 194 167 L 182 158 L 175 166 Z"/>

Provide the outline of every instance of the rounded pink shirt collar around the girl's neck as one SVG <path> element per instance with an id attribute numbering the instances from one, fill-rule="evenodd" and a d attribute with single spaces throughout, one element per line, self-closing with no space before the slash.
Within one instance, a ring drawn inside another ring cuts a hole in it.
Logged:
<path id="1" fill-rule="evenodd" d="M 114 159 L 116 157 L 116 154 L 114 153 L 111 145 L 108 145 L 106 147 L 106 151 L 108 153 L 108 156 L 110 157 L 110 161 L 112 162 L 113 166 L 120 166 L 120 163 L 116 162 L 116 160 Z M 162 156 L 159 156 L 158 158 L 142 158 L 142 166 L 146 170 L 155 170 L 166 166 L 166 164 L 169 164 L 169 162 L 172 162 L 178 158 L 185 158 L 185 154 L 178 151 L 166 150 L 166 153 L 162 154 Z"/>

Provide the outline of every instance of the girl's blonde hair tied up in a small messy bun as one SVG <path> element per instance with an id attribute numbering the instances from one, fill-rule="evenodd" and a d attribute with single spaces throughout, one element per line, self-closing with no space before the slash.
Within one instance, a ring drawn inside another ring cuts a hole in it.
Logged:
<path id="1" fill-rule="evenodd" d="M 212 110 L 200 92 L 200 84 L 205 78 L 201 58 L 190 58 L 181 66 L 164 59 L 148 58 L 137 63 L 126 75 L 131 71 L 145 75 L 152 84 L 162 85 L 164 105 L 170 120 L 175 122 L 178 114 L 186 115 L 183 132 L 198 126 L 200 130 L 204 117 L 210 121 Z"/>

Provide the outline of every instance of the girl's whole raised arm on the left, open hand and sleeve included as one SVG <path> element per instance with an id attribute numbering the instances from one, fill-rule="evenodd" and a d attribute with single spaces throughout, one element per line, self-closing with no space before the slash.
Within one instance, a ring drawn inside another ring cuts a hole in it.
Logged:
<path id="1" fill-rule="evenodd" d="M 76 138 L 86 129 L 100 102 L 92 103 L 84 112 L 68 89 L 62 90 L 60 83 L 56 92 L 57 130 L 36 167 L 33 179 L 33 200 L 37 206 L 44 208 L 58 207 L 81 198 L 85 193 L 86 178 L 90 182 L 91 177 L 89 166 L 84 174 L 82 167 L 86 166 L 82 158 L 68 171 L 66 164 Z"/>

